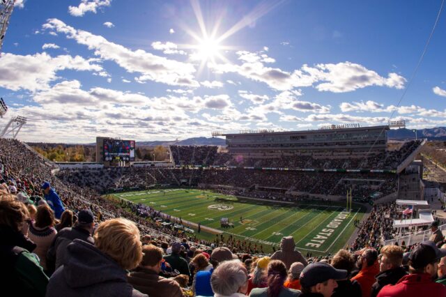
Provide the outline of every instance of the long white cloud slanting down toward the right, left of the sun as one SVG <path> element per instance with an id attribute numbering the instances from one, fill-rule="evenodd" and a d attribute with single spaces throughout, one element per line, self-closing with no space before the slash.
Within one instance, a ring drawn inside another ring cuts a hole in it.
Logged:
<path id="1" fill-rule="evenodd" d="M 153 81 L 178 86 L 199 86 L 199 83 L 194 79 L 196 69 L 190 63 L 166 59 L 144 50 L 132 51 L 122 45 L 111 43 L 102 36 L 76 30 L 57 19 L 48 20 L 43 28 L 64 33 L 67 38 L 87 45 L 89 50 L 94 50 L 96 56 L 116 62 L 128 73 L 140 73 L 139 77 L 134 78 L 136 82 Z"/>

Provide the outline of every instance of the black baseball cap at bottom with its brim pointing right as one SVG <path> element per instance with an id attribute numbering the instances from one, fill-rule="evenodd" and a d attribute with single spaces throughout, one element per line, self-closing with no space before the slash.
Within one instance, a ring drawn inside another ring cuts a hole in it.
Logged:
<path id="1" fill-rule="evenodd" d="M 299 280 L 302 287 L 309 288 L 327 280 L 344 280 L 347 275 L 344 269 L 336 269 L 327 263 L 317 262 L 308 264 L 300 273 Z"/>

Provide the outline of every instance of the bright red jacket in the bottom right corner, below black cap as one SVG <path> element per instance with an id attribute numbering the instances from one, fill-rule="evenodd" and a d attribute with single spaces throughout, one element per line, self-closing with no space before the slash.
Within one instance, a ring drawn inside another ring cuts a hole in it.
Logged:
<path id="1" fill-rule="evenodd" d="M 419 297 L 446 296 L 446 287 L 433 282 L 431 275 L 410 274 L 401 277 L 397 284 L 387 284 L 378 293 L 378 297 Z"/>

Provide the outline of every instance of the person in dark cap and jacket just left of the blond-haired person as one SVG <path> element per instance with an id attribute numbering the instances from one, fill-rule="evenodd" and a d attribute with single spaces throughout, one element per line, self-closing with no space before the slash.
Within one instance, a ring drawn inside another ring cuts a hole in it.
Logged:
<path id="1" fill-rule="evenodd" d="M 64 212 L 65 213 L 65 212 Z M 63 215 L 62 215 L 63 216 Z M 86 243 L 95 243 L 91 234 L 95 226 L 93 213 L 89 209 L 79 211 L 78 220 L 75 227 L 66 227 L 56 235 L 54 241 L 47 252 L 47 271 L 54 273 L 66 258 L 67 246 L 75 239 L 80 239 Z"/>

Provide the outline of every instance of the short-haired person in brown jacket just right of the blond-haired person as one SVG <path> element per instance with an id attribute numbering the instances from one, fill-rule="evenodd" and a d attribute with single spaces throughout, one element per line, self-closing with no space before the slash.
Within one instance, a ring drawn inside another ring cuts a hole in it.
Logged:
<path id="1" fill-rule="evenodd" d="M 158 274 L 161 271 L 162 249 L 155 245 L 144 245 L 141 264 L 128 275 L 134 289 L 151 297 L 181 297 L 180 285 L 173 279 Z"/>

